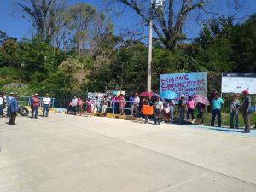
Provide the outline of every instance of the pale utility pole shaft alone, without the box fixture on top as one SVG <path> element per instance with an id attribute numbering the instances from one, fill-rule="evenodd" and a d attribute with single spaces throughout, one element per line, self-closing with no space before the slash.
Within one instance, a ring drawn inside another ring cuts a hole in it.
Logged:
<path id="1" fill-rule="evenodd" d="M 149 37 L 148 37 L 148 79 L 147 79 L 147 90 L 148 90 L 148 91 L 151 91 L 153 6 L 154 6 L 154 0 L 150 0 L 150 11 L 149 11 Z"/>

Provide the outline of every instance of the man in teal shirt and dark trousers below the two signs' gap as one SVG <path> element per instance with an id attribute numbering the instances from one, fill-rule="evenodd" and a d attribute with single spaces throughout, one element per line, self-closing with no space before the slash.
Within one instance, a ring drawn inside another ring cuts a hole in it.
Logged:
<path id="1" fill-rule="evenodd" d="M 224 101 L 219 97 L 218 93 L 215 93 L 212 99 L 212 121 L 211 126 L 214 126 L 216 115 L 218 117 L 218 127 L 221 127 L 221 110 L 224 108 Z"/>

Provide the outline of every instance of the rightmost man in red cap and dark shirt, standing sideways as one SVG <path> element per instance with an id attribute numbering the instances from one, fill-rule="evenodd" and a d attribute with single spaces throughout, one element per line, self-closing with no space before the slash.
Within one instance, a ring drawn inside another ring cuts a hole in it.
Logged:
<path id="1" fill-rule="evenodd" d="M 252 98 L 249 96 L 249 91 L 244 90 L 242 91 L 242 96 L 243 96 L 243 101 L 241 104 L 241 113 L 242 117 L 244 119 L 244 124 L 245 124 L 245 129 L 244 131 L 241 131 L 242 133 L 249 133 L 250 132 L 250 108 L 251 108 L 251 103 L 252 103 Z"/>

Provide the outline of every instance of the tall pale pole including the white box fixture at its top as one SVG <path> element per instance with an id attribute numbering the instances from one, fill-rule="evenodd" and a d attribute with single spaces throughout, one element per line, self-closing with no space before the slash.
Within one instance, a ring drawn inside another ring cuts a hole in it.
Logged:
<path id="1" fill-rule="evenodd" d="M 148 79 L 147 79 L 147 90 L 151 91 L 151 63 L 152 63 L 152 32 L 153 32 L 153 18 L 154 9 L 162 9 L 164 0 L 150 0 L 150 11 L 149 11 L 149 35 L 148 35 Z"/>

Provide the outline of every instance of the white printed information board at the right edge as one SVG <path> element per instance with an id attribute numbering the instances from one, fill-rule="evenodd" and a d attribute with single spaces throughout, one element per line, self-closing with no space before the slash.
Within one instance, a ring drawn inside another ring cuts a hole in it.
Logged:
<path id="1" fill-rule="evenodd" d="M 223 93 L 241 93 L 243 90 L 256 94 L 256 73 L 222 73 Z"/>

